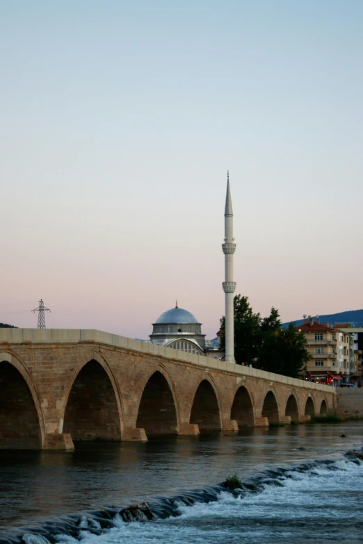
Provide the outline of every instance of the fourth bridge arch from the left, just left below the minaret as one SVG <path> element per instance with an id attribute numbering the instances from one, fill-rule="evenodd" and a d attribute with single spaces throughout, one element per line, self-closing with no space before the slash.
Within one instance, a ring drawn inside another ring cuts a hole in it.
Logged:
<path id="1" fill-rule="evenodd" d="M 193 395 L 191 416 L 189 422 L 197 424 L 200 433 L 220 431 L 220 402 L 216 386 L 209 374 L 200 381 Z"/>

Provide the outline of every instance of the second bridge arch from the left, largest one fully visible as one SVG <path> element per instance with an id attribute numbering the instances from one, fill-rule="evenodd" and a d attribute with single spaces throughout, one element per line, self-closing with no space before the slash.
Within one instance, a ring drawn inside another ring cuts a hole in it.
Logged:
<path id="1" fill-rule="evenodd" d="M 121 440 L 122 429 L 122 406 L 115 377 L 106 361 L 92 354 L 77 365 L 67 388 L 63 432 L 73 440 L 106 442 Z"/>

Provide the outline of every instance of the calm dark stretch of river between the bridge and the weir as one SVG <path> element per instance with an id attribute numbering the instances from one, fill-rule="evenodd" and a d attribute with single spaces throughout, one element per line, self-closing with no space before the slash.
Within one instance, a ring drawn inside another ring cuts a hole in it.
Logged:
<path id="1" fill-rule="evenodd" d="M 174 495 L 216 484 L 234 472 L 245 478 L 266 464 L 331 457 L 361 447 L 362 436 L 362 422 L 348 422 L 147 443 L 76 443 L 76 450 L 67 453 L 0 451 L 0 527 Z"/>

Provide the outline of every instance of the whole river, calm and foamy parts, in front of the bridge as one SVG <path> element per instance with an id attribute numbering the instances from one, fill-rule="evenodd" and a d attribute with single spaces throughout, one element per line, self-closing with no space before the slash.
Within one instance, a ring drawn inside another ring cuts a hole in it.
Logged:
<path id="1" fill-rule="evenodd" d="M 0 451 L 0 543 L 362 543 L 363 463 L 344 455 L 362 445 L 347 422 Z M 142 500 L 156 520 L 123 522 Z"/>

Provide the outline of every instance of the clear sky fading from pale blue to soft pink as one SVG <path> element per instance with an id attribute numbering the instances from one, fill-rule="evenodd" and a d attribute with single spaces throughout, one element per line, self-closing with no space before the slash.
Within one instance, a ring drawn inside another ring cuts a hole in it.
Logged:
<path id="1" fill-rule="evenodd" d="M 361 0 L 0 1 L 0 321 L 363 307 Z"/>

